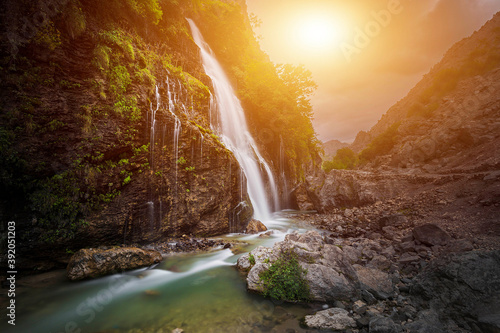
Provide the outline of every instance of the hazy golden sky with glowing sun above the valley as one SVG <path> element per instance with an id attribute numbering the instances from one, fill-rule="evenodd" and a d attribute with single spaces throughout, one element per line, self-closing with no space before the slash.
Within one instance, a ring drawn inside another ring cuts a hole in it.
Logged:
<path id="1" fill-rule="evenodd" d="M 304 64 L 321 140 L 370 129 L 500 0 L 246 0 L 275 63 Z"/>

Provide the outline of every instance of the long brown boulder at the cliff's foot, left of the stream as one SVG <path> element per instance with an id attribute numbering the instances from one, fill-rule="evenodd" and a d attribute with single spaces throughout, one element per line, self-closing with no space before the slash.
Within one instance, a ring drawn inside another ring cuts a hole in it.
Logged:
<path id="1" fill-rule="evenodd" d="M 82 280 L 151 266 L 160 261 L 160 252 L 135 247 L 81 249 L 71 257 L 66 274 L 70 280 Z"/>

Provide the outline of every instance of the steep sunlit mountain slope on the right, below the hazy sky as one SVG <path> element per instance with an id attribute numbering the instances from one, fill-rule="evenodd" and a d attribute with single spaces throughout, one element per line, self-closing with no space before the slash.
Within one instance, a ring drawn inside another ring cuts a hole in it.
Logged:
<path id="1" fill-rule="evenodd" d="M 429 170 L 498 168 L 499 147 L 500 13 L 448 50 L 351 145 L 365 149 L 368 166 Z"/>

